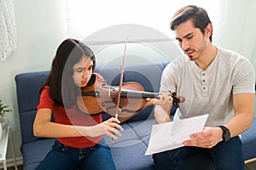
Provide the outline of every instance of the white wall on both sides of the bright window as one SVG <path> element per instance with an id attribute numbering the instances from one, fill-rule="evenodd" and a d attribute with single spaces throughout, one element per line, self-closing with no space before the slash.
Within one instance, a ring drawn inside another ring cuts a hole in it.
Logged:
<path id="1" fill-rule="evenodd" d="M 18 44 L 9 59 L 0 61 L 0 99 L 14 110 L 14 114 L 9 114 L 8 117 L 15 139 L 16 156 L 21 155 L 15 75 L 26 71 L 49 70 L 55 49 L 67 37 L 64 2 L 14 0 Z M 256 65 L 256 20 L 253 19 L 255 7 L 254 0 L 228 0 L 224 26 L 213 32 L 215 44 L 245 55 L 253 65 Z M 95 14 L 97 13 L 99 11 Z M 88 17 L 93 17 L 93 14 Z M 8 158 L 10 157 L 9 150 Z"/>

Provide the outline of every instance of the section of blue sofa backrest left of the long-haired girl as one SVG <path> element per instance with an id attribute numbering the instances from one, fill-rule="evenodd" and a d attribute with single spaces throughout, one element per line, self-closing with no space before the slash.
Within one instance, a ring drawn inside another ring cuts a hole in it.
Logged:
<path id="1" fill-rule="evenodd" d="M 15 76 L 22 144 L 40 139 L 33 135 L 32 127 L 39 103 L 39 90 L 48 74 L 49 71 L 38 71 Z"/>

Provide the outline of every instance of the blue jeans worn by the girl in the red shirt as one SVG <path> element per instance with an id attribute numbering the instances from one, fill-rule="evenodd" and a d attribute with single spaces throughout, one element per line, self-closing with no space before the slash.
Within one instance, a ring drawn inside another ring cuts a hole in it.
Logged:
<path id="1" fill-rule="evenodd" d="M 39 164 L 37 170 L 69 170 L 76 167 L 87 170 L 114 170 L 113 158 L 104 139 L 93 147 L 83 149 L 69 147 L 55 140 L 52 150 Z"/>

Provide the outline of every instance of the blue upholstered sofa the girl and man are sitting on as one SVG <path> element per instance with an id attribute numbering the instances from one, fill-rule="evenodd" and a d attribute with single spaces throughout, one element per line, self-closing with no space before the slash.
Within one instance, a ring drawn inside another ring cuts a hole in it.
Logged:
<path id="1" fill-rule="evenodd" d="M 138 82 L 143 85 L 147 92 L 158 92 L 160 77 L 168 62 L 157 64 L 147 63 L 141 65 L 127 65 L 123 77 L 124 82 Z M 105 66 L 97 67 L 108 84 L 119 84 L 120 67 Z M 16 93 L 18 100 L 20 131 L 22 144 L 20 150 L 23 156 L 24 170 L 33 170 L 44 159 L 50 150 L 54 139 L 38 138 L 33 136 L 32 124 L 36 114 L 39 88 L 44 84 L 49 71 L 27 72 L 16 75 Z M 114 143 L 108 137 L 104 137 L 111 147 L 113 160 L 118 170 L 121 169 L 153 169 L 152 156 L 144 156 L 150 137 L 151 127 L 154 124 L 154 106 L 139 112 L 128 121 L 122 123 L 125 129 L 122 137 Z M 103 119 L 109 116 L 103 114 Z M 245 160 L 256 157 L 256 119 L 253 126 L 247 132 L 241 134 L 243 153 Z"/>

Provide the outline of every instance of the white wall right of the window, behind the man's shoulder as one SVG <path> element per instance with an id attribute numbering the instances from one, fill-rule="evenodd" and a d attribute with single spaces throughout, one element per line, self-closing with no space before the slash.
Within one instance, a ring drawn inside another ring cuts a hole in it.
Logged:
<path id="1" fill-rule="evenodd" d="M 256 66 L 255 7 L 254 0 L 228 0 L 224 26 L 213 30 L 213 40 L 218 46 L 243 54 Z"/>

